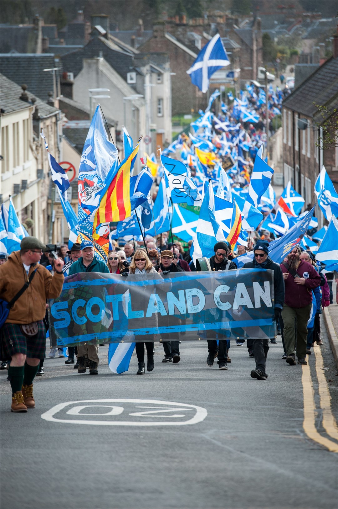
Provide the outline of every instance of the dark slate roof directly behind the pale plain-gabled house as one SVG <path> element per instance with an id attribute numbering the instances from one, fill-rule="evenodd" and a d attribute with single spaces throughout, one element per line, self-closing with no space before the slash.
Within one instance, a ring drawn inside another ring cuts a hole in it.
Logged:
<path id="1" fill-rule="evenodd" d="M 79 74 L 83 67 L 83 59 L 90 59 L 102 56 L 115 71 L 127 80 L 127 73 L 134 69 L 132 55 L 120 50 L 114 49 L 112 43 L 102 37 L 91 39 L 82 49 L 72 51 L 61 56 L 63 71 L 73 72 L 74 78 Z"/>

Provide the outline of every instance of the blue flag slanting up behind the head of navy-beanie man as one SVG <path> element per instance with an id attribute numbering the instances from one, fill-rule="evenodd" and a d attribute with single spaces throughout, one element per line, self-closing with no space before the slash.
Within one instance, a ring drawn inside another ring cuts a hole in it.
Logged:
<path id="1" fill-rule="evenodd" d="M 273 240 L 269 244 L 269 257 L 273 262 L 282 263 L 286 255 L 293 247 L 299 245 L 301 239 L 308 231 L 309 224 L 314 213 L 313 207 L 308 214 L 301 220 L 296 222 L 283 237 Z M 234 262 L 238 267 L 242 267 L 244 263 L 251 262 L 254 258 L 254 251 L 236 258 Z"/>

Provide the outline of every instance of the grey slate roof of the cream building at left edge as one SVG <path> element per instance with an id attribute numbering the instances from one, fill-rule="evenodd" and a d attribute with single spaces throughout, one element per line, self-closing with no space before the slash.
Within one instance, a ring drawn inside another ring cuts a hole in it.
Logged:
<path id="1" fill-rule="evenodd" d="M 59 111 L 54 108 L 54 106 L 50 106 L 36 97 L 31 91 L 29 91 L 29 89 L 26 90 L 26 93 L 28 94 L 29 100 L 34 97 L 36 98 L 35 106 L 38 108 L 38 114 L 41 118 L 49 117 Z M 21 94 L 22 89 L 19 85 L 8 79 L 3 74 L 0 74 L 0 104 L 5 110 L 5 115 L 12 113 L 13 111 L 20 111 L 21 109 L 32 107 L 33 102 L 23 101 L 20 99 Z"/>

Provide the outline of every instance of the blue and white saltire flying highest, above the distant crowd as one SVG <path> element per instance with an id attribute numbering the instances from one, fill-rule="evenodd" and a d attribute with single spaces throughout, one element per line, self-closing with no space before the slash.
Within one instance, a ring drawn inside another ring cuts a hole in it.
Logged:
<path id="1" fill-rule="evenodd" d="M 228 65 L 230 62 L 221 36 L 216 34 L 198 53 L 187 74 L 190 74 L 192 83 L 205 93 L 209 88 L 212 74 Z"/>

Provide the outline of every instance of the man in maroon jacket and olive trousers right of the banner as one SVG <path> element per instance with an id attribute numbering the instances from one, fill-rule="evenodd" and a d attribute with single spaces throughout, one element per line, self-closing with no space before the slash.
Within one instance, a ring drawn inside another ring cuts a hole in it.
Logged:
<path id="1" fill-rule="evenodd" d="M 295 246 L 287 256 L 287 262 L 280 267 L 285 282 L 285 302 L 282 310 L 284 322 L 284 342 L 286 362 L 290 366 L 307 364 L 306 344 L 308 339 L 308 321 L 312 306 L 312 290 L 320 285 L 321 277 L 314 267 L 300 260 L 300 247 Z M 297 330 L 297 349 L 295 355 L 295 324 Z"/>

